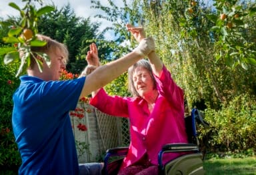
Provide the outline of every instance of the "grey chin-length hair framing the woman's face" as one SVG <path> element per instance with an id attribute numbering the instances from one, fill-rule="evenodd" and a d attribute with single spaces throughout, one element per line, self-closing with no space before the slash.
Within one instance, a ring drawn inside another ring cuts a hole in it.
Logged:
<path id="1" fill-rule="evenodd" d="M 137 67 L 143 67 L 147 71 L 149 71 L 149 75 L 154 83 L 153 88 L 154 89 L 157 88 L 157 82 L 155 81 L 155 77 L 153 75 L 153 71 L 152 71 L 149 61 L 147 61 L 145 59 L 141 59 L 140 61 L 137 61 L 137 63 L 135 63 L 133 66 L 129 67 L 129 69 L 128 69 L 128 90 L 129 90 L 129 92 L 131 92 L 131 94 L 133 96 L 139 96 L 139 93 L 137 92 L 137 90 L 134 86 L 134 83 L 133 83 L 133 73 Z"/>

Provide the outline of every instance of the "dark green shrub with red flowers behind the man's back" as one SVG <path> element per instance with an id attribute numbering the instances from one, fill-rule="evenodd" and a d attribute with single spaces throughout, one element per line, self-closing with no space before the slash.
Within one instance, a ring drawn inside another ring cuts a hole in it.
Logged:
<path id="1" fill-rule="evenodd" d="M 13 168 L 21 164 L 21 158 L 15 143 L 11 116 L 13 110 L 13 92 L 19 85 L 19 79 L 15 78 L 15 67 L 0 63 L 0 166 Z M 2 169 L 2 168 L 1 168 Z"/>

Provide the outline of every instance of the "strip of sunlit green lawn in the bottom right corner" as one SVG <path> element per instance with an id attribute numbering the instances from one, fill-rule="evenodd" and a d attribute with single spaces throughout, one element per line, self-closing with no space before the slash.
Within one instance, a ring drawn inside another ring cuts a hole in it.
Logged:
<path id="1" fill-rule="evenodd" d="M 203 168 L 206 175 L 253 175 L 256 174 L 256 156 L 205 160 Z"/>

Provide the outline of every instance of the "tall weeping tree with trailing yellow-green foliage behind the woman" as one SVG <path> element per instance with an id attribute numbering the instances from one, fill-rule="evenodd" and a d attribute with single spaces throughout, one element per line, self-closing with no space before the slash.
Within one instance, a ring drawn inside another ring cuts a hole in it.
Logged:
<path id="1" fill-rule="evenodd" d="M 92 2 L 107 14 L 98 17 L 113 23 L 106 30 L 115 31 L 119 43 L 126 39 L 131 48 L 135 45 L 125 23 L 145 27 L 173 79 L 185 90 L 189 107 L 219 109 L 239 94 L 255 95 L 253 2 L 215 1 L 213 7 L 204 1 L 135 0 L 129 5 L 123 1 L 121 8 L 113 1 L 109 7 Z"/>

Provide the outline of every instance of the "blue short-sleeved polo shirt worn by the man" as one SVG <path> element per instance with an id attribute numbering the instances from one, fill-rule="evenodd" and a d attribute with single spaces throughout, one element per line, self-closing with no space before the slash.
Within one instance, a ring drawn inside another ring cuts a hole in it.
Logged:
<path id="1" fill-rule="evenodd" d="M 19 174 L 79 174 L 69 110 L 74 110 L 85 77 L 43 81 L 22 76 L 13 94 L 13 132 L 21 154 Z"/>

